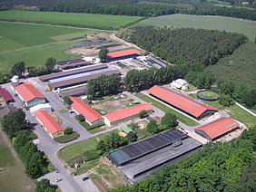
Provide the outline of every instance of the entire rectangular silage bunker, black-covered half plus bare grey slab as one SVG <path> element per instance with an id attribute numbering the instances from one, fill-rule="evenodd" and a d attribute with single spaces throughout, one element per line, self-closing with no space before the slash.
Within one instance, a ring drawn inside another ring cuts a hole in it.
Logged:
<path id="1" fill-rule="evenodd" d="M 182 140 L 173 148 L 172 143 Z M 187 157 L 202 144 L 180 130 L 167 130 L 158 135 L 111 152 L 108 158 L 132 182 L 141 181 L 153 172 Z"/>

